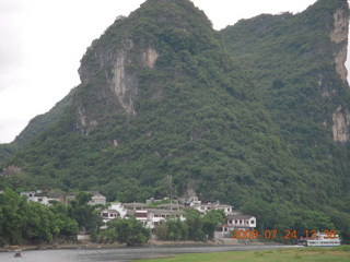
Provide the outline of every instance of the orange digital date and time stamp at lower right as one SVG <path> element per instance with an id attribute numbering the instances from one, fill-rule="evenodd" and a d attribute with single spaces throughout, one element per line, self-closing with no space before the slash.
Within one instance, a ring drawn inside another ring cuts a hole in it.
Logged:
<path id="1" fill-rule="evenodd" d="M 337 237 L 336 230 L 323 230 L 319 231 L 320 234 L 324 234 L 324 239 L 335 239 Z M 265 239 L 300 239 L 301 237 L 307 238 L 307 239 L 316 239 L 317 237 L 317 230 L 311 229 L 311 230 L 303 230 L 299 231 L 300 235 L 298 235 L 298 230 L 273 230 L 268 229 L 264 231 L 258 230 L 232 230 L 232 238 L 233 239 L 258 239 L 258 238 L 265 238 Z"/>

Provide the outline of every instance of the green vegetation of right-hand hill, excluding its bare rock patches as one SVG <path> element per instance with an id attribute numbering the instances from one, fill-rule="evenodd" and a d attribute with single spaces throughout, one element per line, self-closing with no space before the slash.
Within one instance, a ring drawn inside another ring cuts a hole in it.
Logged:
<path id="1" fill-rule="evenodd" d="M 349 144 L 336 143 L 331 131 L 332 114 L 350 100 L 349 85 L 334 64 L 335 53 L 347 43 L 335 45 L 329 37 L 336 10 L 349 15 L 347 1 L 320 0 L 296 15 L 262 14 L 221 32 L 230 55 L 261 92 L 265 108 L 280 130 L 279 143 L 292 155 L 275 162 L 266 142 L 259 143 L 270 159 L 268 176 L 275 177 L 268 184 L 264 176 L 260 186 L 271 190 L 271 198 L 250 199 L 242 209 L 257 215 L 265 229 L 336 226 L 345 239 L 350 238 L 345 207 Z M 275 172 L 281 166 L 283 171 Z M 288 191 L 293 191 L 290 199 L 281 201 Z"/>

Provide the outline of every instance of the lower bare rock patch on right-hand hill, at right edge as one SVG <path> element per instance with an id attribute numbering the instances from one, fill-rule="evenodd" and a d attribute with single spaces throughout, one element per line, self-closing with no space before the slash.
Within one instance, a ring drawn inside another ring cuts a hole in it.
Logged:
<path id="1" fill-rule="evenodd" d="M 332 136 L 335 141 L 347 142 L 350 139 L 350 111 L 339 106 L 332 114 Z"/>

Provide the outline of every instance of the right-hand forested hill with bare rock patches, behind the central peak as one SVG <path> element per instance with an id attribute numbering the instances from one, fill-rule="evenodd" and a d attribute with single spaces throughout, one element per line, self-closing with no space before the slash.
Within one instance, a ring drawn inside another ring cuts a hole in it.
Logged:
<path id="1" fill-rule="evenodd" d="M 346 212 L 350 203 L 348 24 L 346 0 L 319 0 L 295 15 L 262 14 L 221 32 L 232 58 L 261 91 L 282 140 L 307 165 L 305 190 L 318 192 L 314 201 L 319 209 L 329 205 Z"/>

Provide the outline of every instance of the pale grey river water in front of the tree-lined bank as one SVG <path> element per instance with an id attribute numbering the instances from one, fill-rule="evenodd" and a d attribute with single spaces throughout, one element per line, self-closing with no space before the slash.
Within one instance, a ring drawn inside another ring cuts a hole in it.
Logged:
<path id="1" fill-rule="evenodd" d="M 268 250 L 296 246 L 219 246 L 219 247 L 144 247 L 115 249 L 62 249 L 22 251 L 22 258 L 14 252 L 0 253 L 0 262 L 120 262 L 151 259 L 178 253 L 207 253 L 241 250 Z"/>

